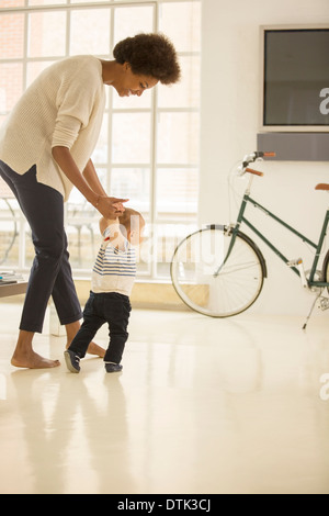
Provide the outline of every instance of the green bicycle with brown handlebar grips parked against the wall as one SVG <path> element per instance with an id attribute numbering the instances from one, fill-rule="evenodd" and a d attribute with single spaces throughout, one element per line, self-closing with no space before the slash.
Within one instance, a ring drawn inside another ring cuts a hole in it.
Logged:
<path id="1" fill-rule="evenodd" d="M 317 293 L 307 318 L 318 299 L 320 299 L 322 310 L 329 307 L 329 300 L 321 295 L 324 289 L 329 287 L 329 251 L 325 256 L 321 270 L 317 270 L 329 222 L 329 210 L 325 215 L 319 240 L 314 243 L 250 197 L 254 176 L 263 176 L 263 173 L 248 166 L 263 156 L 273 155 L 273 153 L 252 153 L 243 158 L 238 168 L 239 175 L 249 172 L 250 178 L 234 224 L 208 225 L 185 237 L 174 250 L 171 262 L 173 287 L 182 301 L 201 314 L 213 317 L 237 315 L 249 309 L 261 293 L 263 280 L 266 278 L 266 263 L 254 242 L 240 232 L 241 223 L 245 223 L 299 277 L 303 288 Z M 318 184 L 316 190 L 328 191 L 329 184 Z M 309 273 L 304 271 L 302 258 L 288 260 L 250 223 L 245 215 L 248 203 L 264 212 L 315 249 Z"/>

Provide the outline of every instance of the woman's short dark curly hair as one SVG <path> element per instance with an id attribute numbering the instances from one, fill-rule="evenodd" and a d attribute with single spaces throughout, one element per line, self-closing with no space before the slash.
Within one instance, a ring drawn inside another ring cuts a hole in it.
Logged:
<path id="1" fill-rule="evenodd" d="M 129 63 L 133 74 L 151 76 L 162 85 L 180 79 L 181 70 L 173 44 L 163 34 L 137 34 L 118 42 L 113 56 L 123 65 Z"/>

